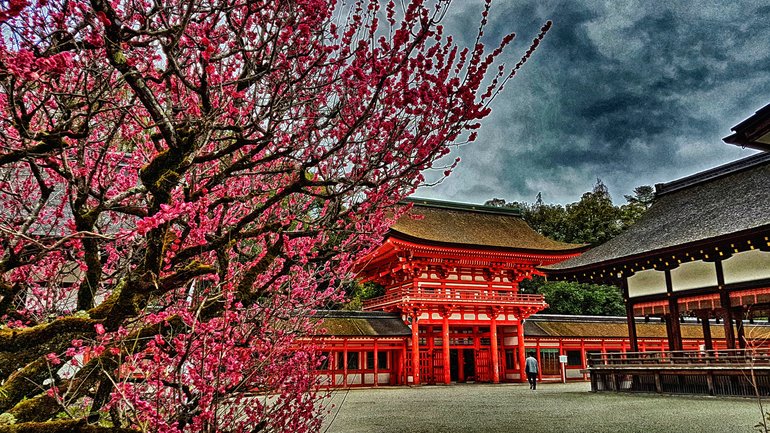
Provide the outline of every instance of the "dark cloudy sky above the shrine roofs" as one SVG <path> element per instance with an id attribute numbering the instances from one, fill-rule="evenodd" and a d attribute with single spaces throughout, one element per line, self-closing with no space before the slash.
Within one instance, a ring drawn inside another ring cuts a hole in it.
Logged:
<path id="1" fill-rule="evenodd" d="M 455 0 L 445 19 L 463 45 L 481 3 Z M 479 139 L 453 152 L 455 172 L 415 196 L 569 203 L 600 178 L 619 204 L 636 186 L 753 154 L 721 139 L 770 103 L 768 17 L 761 1 L 493 0 L 486 42 L 516 32 L 509 64 L 553 28 Z"/>

